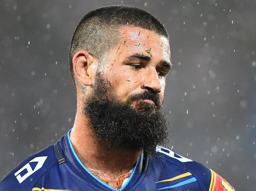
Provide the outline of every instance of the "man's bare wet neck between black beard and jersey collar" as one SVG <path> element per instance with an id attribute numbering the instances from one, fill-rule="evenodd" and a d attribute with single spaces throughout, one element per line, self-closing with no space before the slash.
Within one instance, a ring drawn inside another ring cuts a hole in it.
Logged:
<path id="1" fill-rule="evenodd" d="M 117 180 L 134 168 L 141 152 L 109 147 L 96 139 L 85 116 L 76 116 L 70 140 L 82 164 L 100 180 Z"/>

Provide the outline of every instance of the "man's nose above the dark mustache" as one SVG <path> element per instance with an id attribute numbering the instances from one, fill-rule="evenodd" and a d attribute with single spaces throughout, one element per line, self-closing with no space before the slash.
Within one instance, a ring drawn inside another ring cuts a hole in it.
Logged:
<path id="1" fill-rule="evenodd" d="M 156 69 L 150 69 L 145 77 L 144 82 L 141 84 L 141 89 L 147 89 L 152 92 L 160 93 L 161 88 L 161 82 L 159 80 Z"/>

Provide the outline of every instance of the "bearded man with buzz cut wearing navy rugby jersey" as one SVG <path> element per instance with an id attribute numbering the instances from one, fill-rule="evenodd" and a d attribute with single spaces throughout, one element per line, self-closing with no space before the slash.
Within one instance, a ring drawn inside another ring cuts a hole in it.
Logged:
<path id="1" fill-rule="evenodd" d="M 169 36 L 152 15 L 127 5 L 95 9 L 78 23 L 69 64 L 73 128 L 28 157 L 1 191 L 233 191 L 217 173 L 164 146 L 171 70 Z"/>

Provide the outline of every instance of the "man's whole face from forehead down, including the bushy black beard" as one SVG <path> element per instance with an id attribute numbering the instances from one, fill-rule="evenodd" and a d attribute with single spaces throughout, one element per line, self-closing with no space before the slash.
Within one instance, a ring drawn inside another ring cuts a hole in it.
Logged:
<path id="1" fill-rule="evenodd" d="M 108 60 L 95 65 L 89 96 L 83 99 L 98 140 L 152 154 L 157 144 L 168 142 L 163 92 L 169 53 L 166 38 L 141 28 L 121 28 L 120 44 Z"/>

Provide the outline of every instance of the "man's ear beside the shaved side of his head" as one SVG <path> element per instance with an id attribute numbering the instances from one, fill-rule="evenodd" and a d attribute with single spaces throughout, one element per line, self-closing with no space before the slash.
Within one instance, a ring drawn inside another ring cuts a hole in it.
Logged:
<path id="1" fill-rule="evenodd" d="M 85 50 L 78 51 L 73 57 L 74 75 L 83 85 L 91 85 L 90 65 L 93 61 L 93 56 Z"/>

